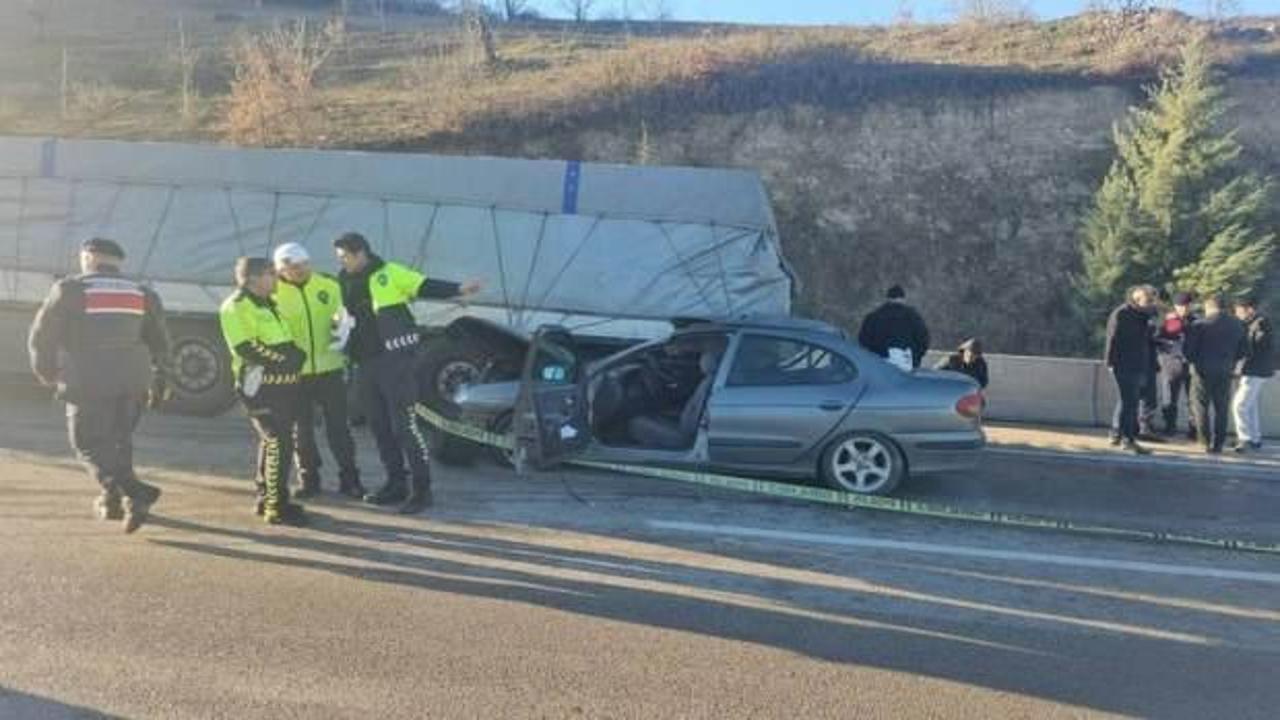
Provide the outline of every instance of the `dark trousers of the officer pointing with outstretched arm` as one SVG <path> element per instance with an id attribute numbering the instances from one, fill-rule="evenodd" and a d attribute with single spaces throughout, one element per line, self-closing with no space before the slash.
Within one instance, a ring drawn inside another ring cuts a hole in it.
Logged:
<path id="1" fill-rule="evenodd" d="M 430 450 L 415 409 L 419 398 L 416 370 L 416 355 L 399 350 L 376 355 L 356 372 L 365 418 L 378 443 L 389 488 L 404 487 L 407 478 L 413 480 L 415 489 L 431 487 Z"/>

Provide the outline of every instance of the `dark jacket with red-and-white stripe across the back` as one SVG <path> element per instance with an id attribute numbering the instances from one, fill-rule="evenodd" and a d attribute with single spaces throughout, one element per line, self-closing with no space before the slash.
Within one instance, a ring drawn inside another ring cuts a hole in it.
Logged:
<path id="1" fill-rule="evenodd" d="M 164 307 L 114 268 L 54 283 L 27 338 L 31 369 L 68 402 L 146 397 L 168 366 Z"/>

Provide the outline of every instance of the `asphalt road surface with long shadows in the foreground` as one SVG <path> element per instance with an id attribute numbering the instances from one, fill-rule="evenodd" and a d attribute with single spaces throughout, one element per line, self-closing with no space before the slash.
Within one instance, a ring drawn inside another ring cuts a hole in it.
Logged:
<path id="1" fill-rule="evenodd" d="M 376 483 L 371 443 L 364 468 Z M 626 477 L 438 473 L 419 518 L 250 514 L 247 424 L 148 418 L 90 519 L 0 404 L 0 717 L 1274 717 L 1280 559 Z M 332 478 L 330 478 L 332 480 Z M 918 497 L 1275 537 L 1280 479 L 993 454 Z"/>

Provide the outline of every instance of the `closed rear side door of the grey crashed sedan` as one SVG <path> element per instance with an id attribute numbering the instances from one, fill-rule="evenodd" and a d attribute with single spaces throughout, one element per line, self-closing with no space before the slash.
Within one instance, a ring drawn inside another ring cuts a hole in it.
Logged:
<path id="1" fill-rule="evenodd" d="M 813 340 L 746 332 L 708 406 L 714 465 L 785 465 L 820 443 L 865 388 L 858 368 Z"/>

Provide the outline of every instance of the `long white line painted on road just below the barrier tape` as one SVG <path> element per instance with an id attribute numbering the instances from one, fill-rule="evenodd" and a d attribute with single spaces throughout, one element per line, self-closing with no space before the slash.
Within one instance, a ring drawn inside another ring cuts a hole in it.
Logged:
<path id="1" fill-rule="evenodd" d="M 817 533 L 797 533 L 790 530 L 768 530 L 764 528 L 742 528 L 739 525 L 705 525 L 701 523 L 680 523 L 667 520 L 646 520 L 646 525 L 660 530 L 686 533 L 732 536 L 744 538 L 808 542 L 814 544 L 835 544 L 842 547 L 869 547 L 877 550 L 900 550 L 927 555 L 950 555 L 956 557 L 977 557 L 982 560 L 1014 560 L 1039 565 L 1062 565 L 1068 568 L 1094 568 L 1101 570 L 1123 570 L 1129 573 L 1148 573 L 1153 575 L 1179 575 L 1184 578 L 1211 578 L 1216 580 L 1251 580 L 1280 585 L 1280 573 L 1258 573 L 1251 570 L 1224 570 L 1220 568 L 1201 568 L 1194 565 L 1167 565 L 1162 562 L 1140 562 L 1135 560 L 1107 560 L 1103 557 L 1083 557 L 1079 555 L 1055 555 L 1043 552 L 1023 552 L 1018 550 L 991 550 L 984 547 L 964 547 L 954 544 L 934 544 L 927 542 L 886 541 L 846 536 L 823 536 Z"/>

